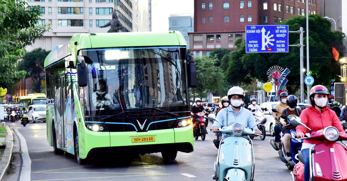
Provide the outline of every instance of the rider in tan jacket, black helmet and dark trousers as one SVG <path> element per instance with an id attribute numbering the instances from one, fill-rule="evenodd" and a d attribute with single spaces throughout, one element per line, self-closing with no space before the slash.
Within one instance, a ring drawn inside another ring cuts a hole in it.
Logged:
<path id="1" fill-rule="evenodd" d="M 287 92 L 281 92 L 280 93 L 280 100 L 281 102 L 278 103 L 274 109 L 277 109 L 278 112 L 282 112 L 284 109 L 288 108 L 287 105 L 287 97 L 288 93 Z M 281 113 L 278 112 L 272 112 L 272 116 L 276 119 L 276 125 L 274 126 L 274 132 L 275 132 L 275 139 L 270 139 L 270 144 L 275 150 L 280 150 L 282 148 L 281 144 L 281 135 L 280 132 L 283 130 L 282 124 L 280 124 L 280 116 Z"/>

